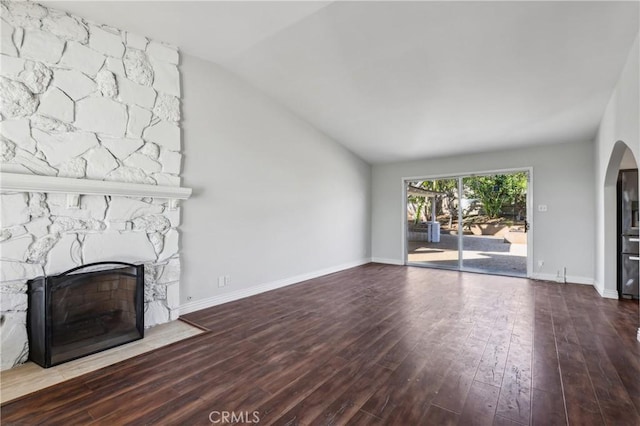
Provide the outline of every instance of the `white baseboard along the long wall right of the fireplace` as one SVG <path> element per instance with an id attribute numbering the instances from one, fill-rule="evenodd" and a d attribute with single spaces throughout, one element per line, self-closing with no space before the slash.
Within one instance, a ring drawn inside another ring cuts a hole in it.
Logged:
<path id="1" fill-rule="evenodd" d="M 318 278 L 323 275 L 329 275 L 335 272 L 344 271 L 345 269 L 355 268 L 356 266 L 365 265 L 367 263 L 371 263 L 371 259 L 369 258 L 360 259 L 353 262 L 344 263 L 342 265 L 333 266 L 331 268 L 321 269 L 319 271 L 309 272 L 307 274 L 296 275 L 295 277 L 284 278 L 282 280 L 258 284 L 256 286 L 233 291 L 231 293 L 225 293 L 225 294 L 220 294 L 218 296 L 207 297 L 205 299 L 194 300 L 192 302 L 187 302 L 184 305 L 180 306 L 180 315 L 199 311 L 201 309 L 210 308 L 216 305 L 222 305 L 223 303 L 233 302 L 234 300 L 244 299 L 245 297 L 255 296 L 256 294 L 264 293 L 270 290 L 276 290 L 278 288 L 286 287 L 292 284 L 297 284 L 302 281 Z"/>

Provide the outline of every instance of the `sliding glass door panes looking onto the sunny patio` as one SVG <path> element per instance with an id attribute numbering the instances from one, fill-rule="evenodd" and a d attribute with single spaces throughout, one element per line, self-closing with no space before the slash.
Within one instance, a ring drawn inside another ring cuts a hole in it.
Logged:
<path id="1" fill-rule="evenodd" d="M 528 171 L 406 181 L 406 263 L 526 276 L 528 186 Z"/>

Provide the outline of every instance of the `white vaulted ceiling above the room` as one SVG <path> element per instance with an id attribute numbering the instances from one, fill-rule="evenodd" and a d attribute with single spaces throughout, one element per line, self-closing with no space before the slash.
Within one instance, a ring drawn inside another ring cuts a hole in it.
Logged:
<path id="1" fill-rule="evenodd" d="M 242 76 L 372 163 L 589 141 L 638 2 L 46 2 Z"/>

